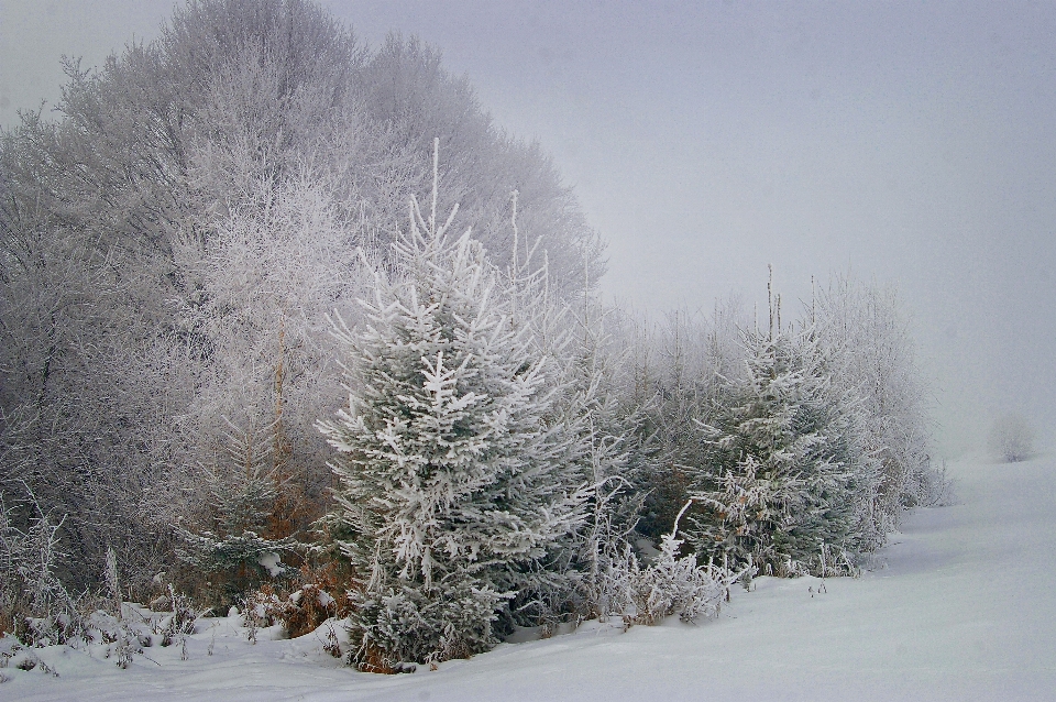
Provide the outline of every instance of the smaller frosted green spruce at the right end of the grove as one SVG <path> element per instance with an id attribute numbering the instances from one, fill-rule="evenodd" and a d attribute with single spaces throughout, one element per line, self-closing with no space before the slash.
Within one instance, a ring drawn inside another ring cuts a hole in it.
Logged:
<path id="1" fill-rule="evenodd" d="M 794 575 L 832 564 L 834 551 L 872 548 L 878 467 L 860 401 L 832 383 L 810 326 L 771 326 L 745 342 L 730 405 L 701 425 L 710 458 L 694 482 L 706 505 L 690 529 L 698 551 Z"/>

